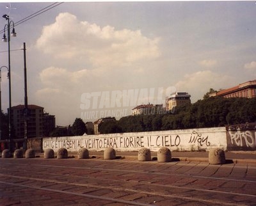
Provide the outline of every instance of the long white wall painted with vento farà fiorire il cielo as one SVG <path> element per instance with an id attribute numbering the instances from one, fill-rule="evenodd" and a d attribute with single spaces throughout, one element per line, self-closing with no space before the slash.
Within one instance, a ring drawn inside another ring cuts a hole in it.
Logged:
<path id="1" fill-rule="evenodd" d="M 60 138 L 43 138 L 42 148 L 67 148 L 68 152 L 77 152 L 80 148 L 104 150 L 108 147 L 116 151 L 138 151 L 141 147 L 157 151 L 168 147 L 172 151 L 209 150 L 212 147 L 227 149 L 225 127 L 204 129 L 185 129 L 174 131 L 132 132 L 122 134 L 100 134 Z"/>

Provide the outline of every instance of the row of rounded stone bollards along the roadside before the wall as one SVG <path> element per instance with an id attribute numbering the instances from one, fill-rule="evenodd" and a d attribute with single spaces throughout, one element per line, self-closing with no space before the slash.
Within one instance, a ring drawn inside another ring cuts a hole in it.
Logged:
<path id="1" fill-rule="evenodd" d="M 5 149 L 2 152 L 2 158 L 10 158 L 12 156 L 10 150 Z M 34 158 L 35 150 L 28 149 L 25 153 L 26 158 Z M 13 158 L 23 158 L 23 150 L 17 149 L 13 153 Z M 55 158 L 54 150 L 48 148 L 44 152 L 45 159 Z M 57 152 L 57 159 L 67 159 L 68 150 L 66 148 L 60 148 Z M 106 148 L 104 150 L 104 159 L 116 159 L 116 151 L 114 148 Z M 77 159 L 89 159 L 89 151 L 86 148 L 81 148 L 77 153 Z M 141 148 L 138 151 L 138 161 L 151 161 L 151 151 L 148 148 Z M 167 147 L 161 147 L 157 151 L 158 162 L 171 162 L 172 152 Z M 209 164 L 225 164 L 225 152 L 220 148 L 211 148 L 209 151 Z"/>

